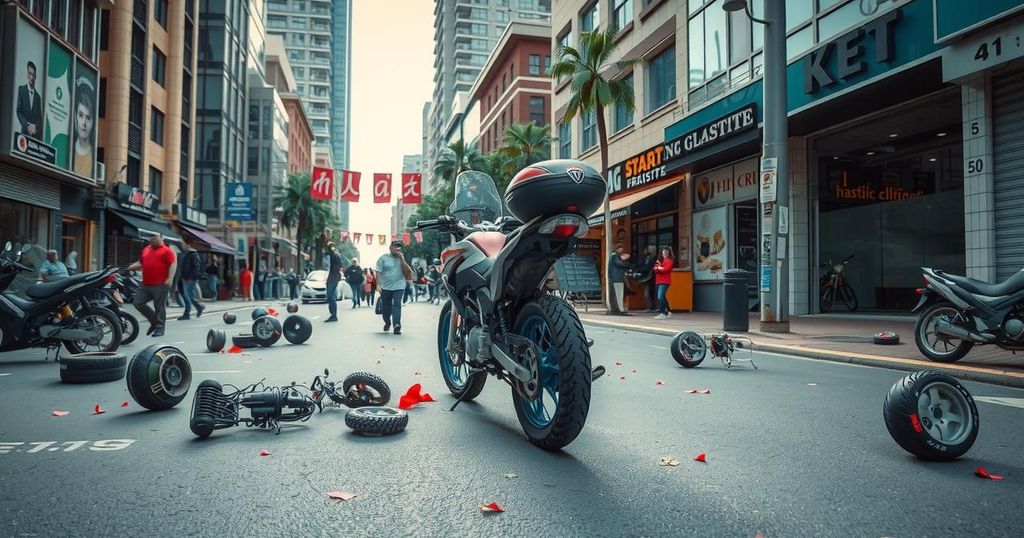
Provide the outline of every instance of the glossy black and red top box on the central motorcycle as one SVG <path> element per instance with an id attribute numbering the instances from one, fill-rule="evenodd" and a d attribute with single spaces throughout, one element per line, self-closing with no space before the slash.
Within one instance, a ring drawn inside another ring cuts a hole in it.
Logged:
<path id="1" fill-rule="evenodd" d="M 604 203 L 607 182 L 593 167 L 558 159 L 524 168 L 509 182 L 505 205 L 522 222 L 577 213 L 588 217 Z"/>

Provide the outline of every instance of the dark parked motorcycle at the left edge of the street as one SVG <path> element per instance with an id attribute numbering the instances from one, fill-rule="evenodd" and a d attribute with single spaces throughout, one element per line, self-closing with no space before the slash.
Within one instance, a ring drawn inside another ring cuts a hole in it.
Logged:
<path id="1" fill-rule="evenodd" d="M 73 354 L 115 351 L 121 344 L 121 323 L 106 308 L 83 304 L 115 279 L 114 268 L 82 273 L 34 284 L 25 296 L 9 291 L 19 273 L 34 273 L 17 261 L 31 247 L 13 254 L 10 242 L 0 255 L 0 351 L 28 347 L 56 348 L 62 343 Z M 73 305 L 81 305 L 74 309 Z"/>

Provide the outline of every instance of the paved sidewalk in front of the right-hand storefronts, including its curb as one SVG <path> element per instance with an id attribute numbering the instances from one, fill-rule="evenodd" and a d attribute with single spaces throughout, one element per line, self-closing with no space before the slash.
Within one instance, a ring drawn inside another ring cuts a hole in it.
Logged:
<path id="1" fill-rule="evenodd" d="M 668 320 L 655 320 L 652 314 L 643 313 L 608 316 L 601 307 L 579 314 L 584 323 L 591 325 L 654 334 L 722 332 L 722 315 L 716 313 L 676 313 Z M 895 370 L 940 369 L 963 379 L 1024 388 L 1024 357 L 982 346 L 975 347 L 956 363 L 933 363 L 922 357 L 913 343 L 913 323 L 914 318 L 910 317 L 802 316 L 790 320 L 790 333 L 777 334 L 760 332 L 759 317 L 755 314 L 751 316 L 751 331 L 734 334 L 751 338 L 755 349 L 761 351 Z M 895 332 L 900 343 L 876 344 L 871 337 L 882 331 Z"/>

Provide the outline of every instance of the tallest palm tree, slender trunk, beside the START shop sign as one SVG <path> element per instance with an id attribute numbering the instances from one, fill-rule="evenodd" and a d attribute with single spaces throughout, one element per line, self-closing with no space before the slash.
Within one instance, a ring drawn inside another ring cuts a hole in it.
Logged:
<path id="1" fill-rule="evenodd" d="M 593 113 L 597 117 L 597 142 L 601 153 L 601 173 L 608 170 L 608 126 L 604 119 L 604 108 L 609 105 L 622 105 L 630 113 L 636 108 L 633 86 L 625 79 L 605 78 L 603 73 L 615 74 L 632 68 L 642 61 L 640 58 L 623 58 L 612 61 L 615 55 L 615 34 L 618 30 L 609 25 L 601 32 L 584 32 L 580 36 L 580 47 L 558 47 L 555 50 L 557 63 L 551 68 L 551 78 L 560 80 L 569 77 L 569 102 L 565 113 L 559 120 L 567 123 L 578 114 Z M 612 69 L 613 68 L 613 69 Z M 611 210 L 608 199 L 604 199 L 604 251 L 611 253 Z M 604 272 L 604 297 L 608 312 L 618 313 L 618 305 L 611 306 L 611 283 L 608 274 Z"/>

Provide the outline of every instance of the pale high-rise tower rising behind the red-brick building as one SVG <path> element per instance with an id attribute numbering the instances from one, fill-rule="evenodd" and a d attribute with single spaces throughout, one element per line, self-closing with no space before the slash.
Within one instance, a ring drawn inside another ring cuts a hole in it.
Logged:
<path id="1" fill-rule="evenodd" d="M 429 190 L 456 94 L 473 86 L 509 23 L 550 20 L 550 13 L 551 0 L 434 0 L 434 92 L 424 155 Z"/>

